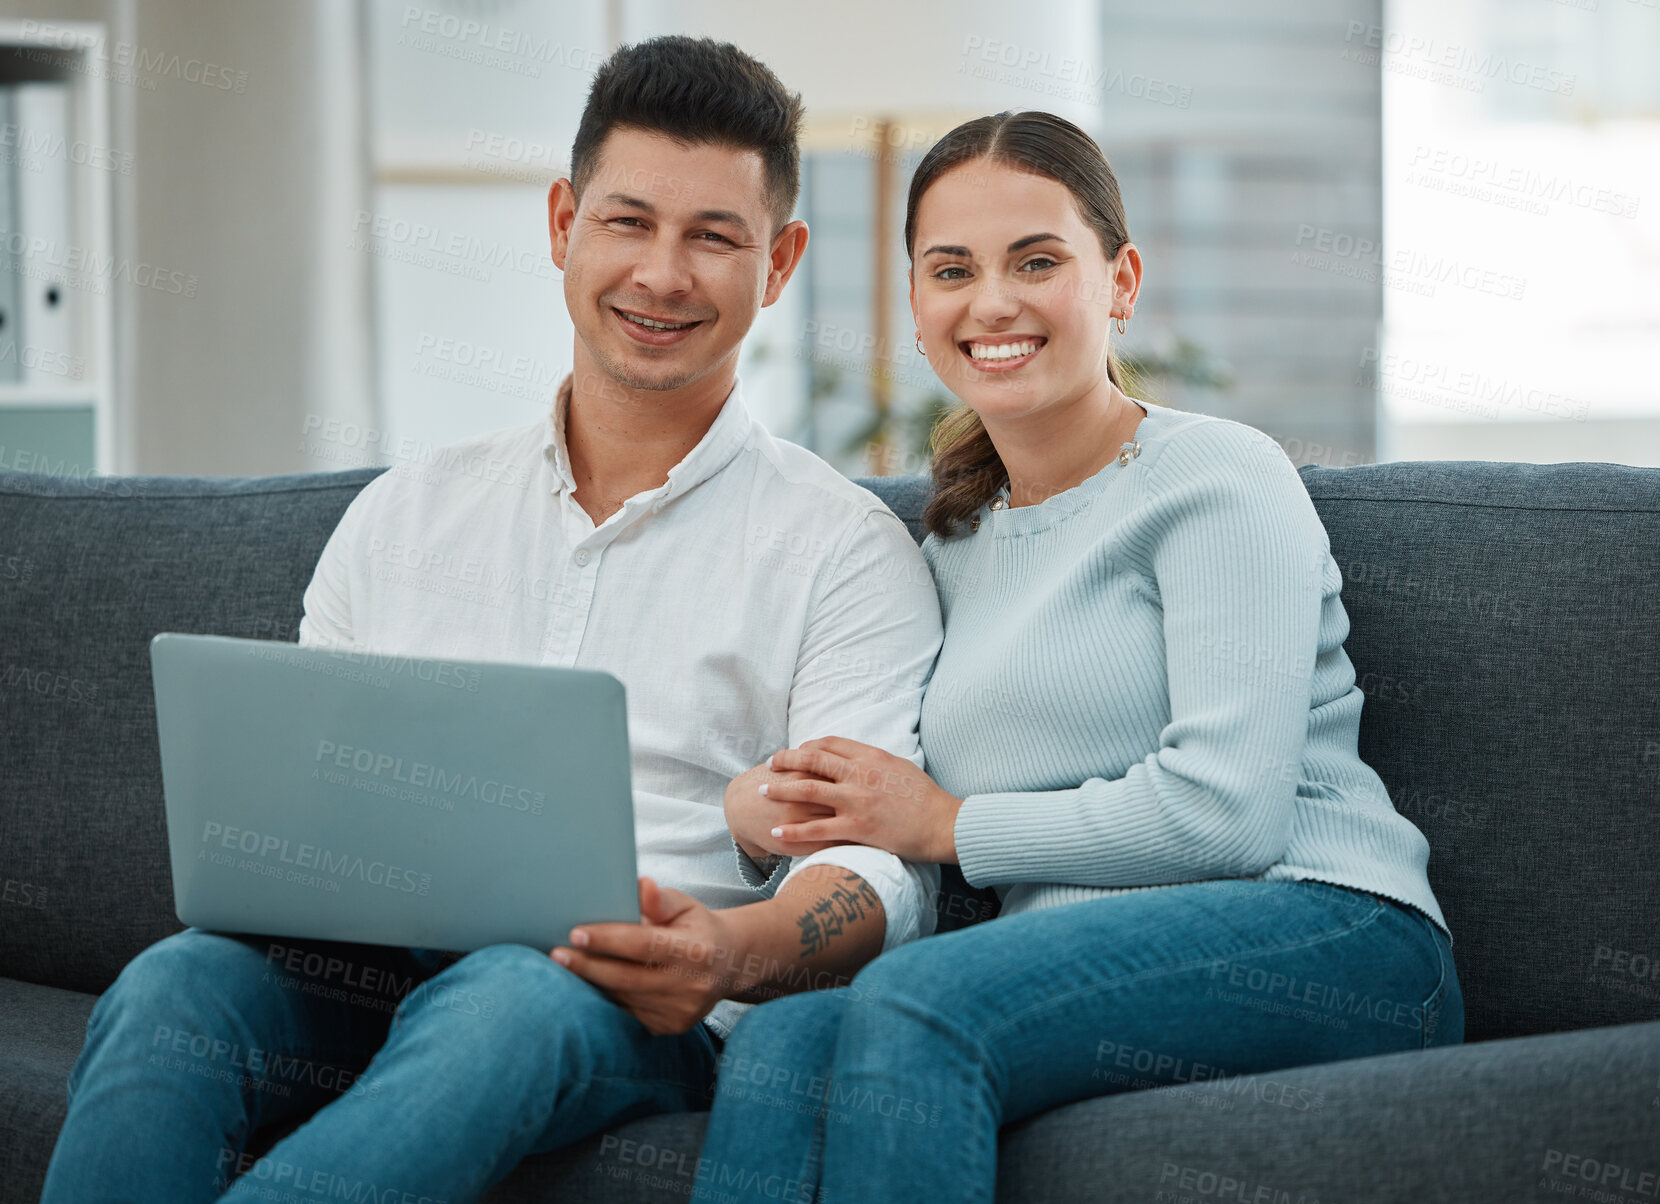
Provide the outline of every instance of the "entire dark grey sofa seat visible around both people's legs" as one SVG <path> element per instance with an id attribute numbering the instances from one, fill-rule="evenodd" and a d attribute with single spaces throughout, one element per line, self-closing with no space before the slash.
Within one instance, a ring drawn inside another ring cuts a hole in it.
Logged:
<path id="1" fill-rule="evenodd" d="M 91 1006 L 90 995 L 0 978 L 7 1199 L 40 1194 Z M 525 1159 L 485 1201 L 684 1204 L 706 1123 L 671 1113 L 621 1124 Z M 1660 1023 L 1627 1025 L 1089 1099 L 1004 1131 L 998 1199 L 1514 1204 L 1580 1187 L 1648 1199 L 1657 1124 Z M 252 1149 L 281 1131 L 261 1129 Z M 1622 1176 L 1643 1174 L 1647 1194 L 1618 1191 Z"/>

